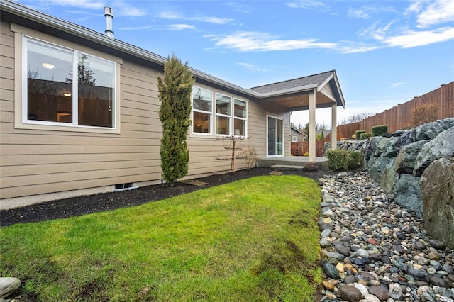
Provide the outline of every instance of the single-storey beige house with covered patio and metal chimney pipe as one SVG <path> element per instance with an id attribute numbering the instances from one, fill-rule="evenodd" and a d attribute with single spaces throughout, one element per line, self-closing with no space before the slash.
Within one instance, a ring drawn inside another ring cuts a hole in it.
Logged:
<path id="1" fill-rule="evenodd" d="M 157 77 L 167 58 L 111 28 L 104 35 L 9 0 L 0 9 L 0 208 L 160 183 Z M 231 169 L 215 160 L 230 154 L 218 138 L 250 138 L 242 147 L 259 157 L 289 156 L 292 111 L 309 109 L 315 125 L 316 108 L 333 108 L 336 121 L 345 105 L 333 70 L 253 89 L 191 72 L 187 178 Z"/>

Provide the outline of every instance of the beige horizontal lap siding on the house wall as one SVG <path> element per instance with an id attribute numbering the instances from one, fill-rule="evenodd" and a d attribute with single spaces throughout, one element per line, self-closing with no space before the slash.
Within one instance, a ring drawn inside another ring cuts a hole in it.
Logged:
<path id="1" fill-rule="evenodd" d="M 15 116 L 18 115 L 14 112 L 14 56 L 17 52 L 14 33 L 9 28 L 9 23 L 1 22 L 0 198 L 7 198 L 11 203 L 11 198 L 21 196 L 43 194 L 41 198 L 52 198 L 49 194 L 57 192 L 92 188 L 104 188 L 105 191 L 106 186 L 114 189 L 115 184 L 160 182 L 162 128 L 158 116 L 157 77 L 161 73 L 123 59 L 120 86 L 116 87 L 121 96 L 119 134 L 15 128 Z M 202 86 L 248 102 L 250 139 L 240 145 L 243 149 L 254 148 L 258 157 L 265 157 L 268 111 L 244 96 Z M 287 138 L 288 115 L 280 116 L 284 118 Z M 231 150 L 224 145 L 229 143 L 216 140 L 215 135 L 189 135 L 189 173 L 185 178 L 228 172 Z M 287 145 L 286 155 L 289 153 Z M 239 152 L 241 150 L 236 154 Z M 216 157 L 227 159 L 216 160 Z M 245 167 L 245 160 L 236 160 L 236 169 Z M 39 197 L 35 201 L 40 201 Z"/>

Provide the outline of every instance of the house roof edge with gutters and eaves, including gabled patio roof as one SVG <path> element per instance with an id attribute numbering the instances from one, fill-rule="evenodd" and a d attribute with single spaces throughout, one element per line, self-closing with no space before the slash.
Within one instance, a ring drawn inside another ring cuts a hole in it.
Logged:
<path id="1" fill-rule="evenodd" d="M 55 16 L 50 16 L 47 13 L 35 11 L 34 9 L 30 9 L 27 6 L 18 4 L 17 2 L 0 0 L 0 9 L 4 12 L 20 17 L 14 18 L 13 22 L 31 26 L 31 21 L 33 28 L 37 30 L 43 30 L 44 32 L 52 33 L 54 35 L 58 34 L 58 31 L 60 31 L 60 35 L 61 33 L 70 33 L 74 36 L 74 38 L 84 40 L 92 47 L 95 46 L 94 43 L 97 43 L 101 49 L 121 52 L 123 54 L 148 61 L 159 67 L 163 67 L 165 62 L 167 62 L 167 58 L 156 55 L 153 52 L 143 50 L 140 47 L 125 43 L 121 40 L 110 38 L 107 35 L 96 32 L 95 30 L 56 18 Z M 2 18 L 4 18 L 4 13 L 2 13 L 2 15 Z M 101 13 L 100 16 L 102 16 Z M 56 32 L 55 29 L 58 31 Z M 309 77 L 301 77 L 289 81 L 258 86 L 252 89 L 245 89 L 222 79 L 218 79 L 217 77 L 213 77 L 210 74 L 206 74 L 205 72 L 201 72 L 197 69 L 193 69 L 191 67 L 189 67 L 189 69 L 199 82 L 206 82 L 214 84 L 215 86 L 221 86 L 223 89 L 235 91 L 238 94 L 248 96 L 251 99 L 258 101 L 271 101 L 272 103 L 279 104 L 279 106 L 287 107 L 292 111 L 307 109 L 309 104 L 307 95 L 314 90 L 317 91 L 316 108 L 333 106 L 333 104 L 336 104 L 337 106 L 345 106 L 341 86 L 338 84 L 336 71 L 334 70 L 314 74 Z M 328 90 L 324 89 L 326 87 L 328 87 Z M 323 89 L 331 91 L 332 96 L 326 97 L 326 91 L 323 91 Z"/>

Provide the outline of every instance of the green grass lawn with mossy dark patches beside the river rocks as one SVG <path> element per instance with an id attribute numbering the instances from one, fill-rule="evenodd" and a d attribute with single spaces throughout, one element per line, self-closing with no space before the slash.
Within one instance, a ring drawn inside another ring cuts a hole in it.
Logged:
<path id="1" fill-rule="evenodd" d="M 0 276 L 40 301 L 314 301 L 320 191 L 253 177 L 0 229 Z"/>

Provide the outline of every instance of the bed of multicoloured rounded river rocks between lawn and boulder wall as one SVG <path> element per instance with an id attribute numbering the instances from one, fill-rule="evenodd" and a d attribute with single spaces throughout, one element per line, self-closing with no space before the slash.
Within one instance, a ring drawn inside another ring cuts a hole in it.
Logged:
<path id="1" fill-rule="evenodd" d="M 319 183 L 321 301 L 454 302 L 453 250 L 429 238 L 423 220 L 367 172 Z"/>

